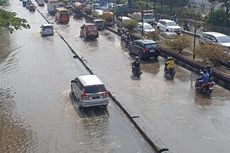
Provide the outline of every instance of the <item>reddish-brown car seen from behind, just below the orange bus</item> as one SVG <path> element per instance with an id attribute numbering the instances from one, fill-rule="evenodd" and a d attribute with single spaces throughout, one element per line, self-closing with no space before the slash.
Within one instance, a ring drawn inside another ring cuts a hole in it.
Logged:
<path id="1" fill-rule="evenodd" d="M 86 23 L 81 26 L 80 36 L 85 39 L 97 39 L 99 37 L 95 24 Z"/>

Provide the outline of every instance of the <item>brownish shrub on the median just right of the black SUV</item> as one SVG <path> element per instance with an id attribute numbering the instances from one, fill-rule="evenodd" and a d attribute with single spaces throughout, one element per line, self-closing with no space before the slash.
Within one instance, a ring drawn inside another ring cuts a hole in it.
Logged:
<path id="1" fill-rule="evenodd" d="M 185 36 L 176 36 L 174 39 L 166 40 L 166 44 L 181 53 L 183 49 L 190 47 L 191 40 Z"/>

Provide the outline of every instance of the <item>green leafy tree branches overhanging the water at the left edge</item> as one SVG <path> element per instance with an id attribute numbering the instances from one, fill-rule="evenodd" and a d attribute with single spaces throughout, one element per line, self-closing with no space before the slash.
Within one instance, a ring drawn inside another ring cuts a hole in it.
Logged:
<path id="1" fill-rule="evenodd" d="M 0 9 L 0 31 L 3 29 L 7 29 L 10 33 L 15 30 L 19 30 L 22 28 L 28 29 L 30 25 L 23 18 L 19 18 L 16 16 L 15 12 L 6 11 Z"/>

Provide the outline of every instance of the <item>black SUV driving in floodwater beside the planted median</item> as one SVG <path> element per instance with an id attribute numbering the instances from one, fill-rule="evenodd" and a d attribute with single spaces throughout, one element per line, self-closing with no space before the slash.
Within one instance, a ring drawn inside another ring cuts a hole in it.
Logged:
<path id="1" fill-rule="evenodd" d="M 155 59 L 159 56 L 159 46 L 157 42 L 150 39 L 139 39 L 131 42 L 128 46 L 129 54 L 139 56 L 139 59 Z"/>

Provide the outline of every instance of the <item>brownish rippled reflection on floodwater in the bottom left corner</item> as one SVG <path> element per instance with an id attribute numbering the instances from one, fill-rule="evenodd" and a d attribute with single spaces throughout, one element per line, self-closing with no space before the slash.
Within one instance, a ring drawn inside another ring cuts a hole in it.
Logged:
<path id="1" fill-rule="evenodd" d="M 0 86 L 0 153 L 36 152 L 33 132 L 15 112 L 14 89 Z"/>

